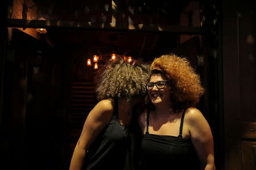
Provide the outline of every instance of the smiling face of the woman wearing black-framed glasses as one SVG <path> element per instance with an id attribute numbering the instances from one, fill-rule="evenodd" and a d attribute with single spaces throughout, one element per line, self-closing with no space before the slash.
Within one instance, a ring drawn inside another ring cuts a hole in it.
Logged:
<path id="1" fill-rule="evenodd" d="M 162 74 L 153 74 L 150 77 L 150 83 L 156 83 L 159 81 L 167 81 L 166 78 Z M 159 89 L 155 86 L 152 88 L 152 90 L 147 91 L 148 96 L 150 97 L 150 101 L 154 105 L 159 104 L 170 104 L 170 86 L 168 86 L 168 83 L 166 83 L 166 86 L 164 88 Z"/>

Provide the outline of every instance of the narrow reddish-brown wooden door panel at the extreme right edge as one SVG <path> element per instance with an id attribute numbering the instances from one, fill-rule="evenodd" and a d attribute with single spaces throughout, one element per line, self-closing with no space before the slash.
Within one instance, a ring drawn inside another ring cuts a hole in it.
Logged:
<path id="1" fill-rule="evenodd" d="M 242 170 L 256 169 L 256 15 L 249 1 L 238 1 Z"/>

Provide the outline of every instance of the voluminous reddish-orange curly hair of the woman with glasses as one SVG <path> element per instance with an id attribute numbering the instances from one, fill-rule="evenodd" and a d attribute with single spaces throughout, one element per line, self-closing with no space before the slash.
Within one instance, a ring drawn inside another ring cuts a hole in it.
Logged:
<path id="1" fill-rule="evenodd" d="M 163 55 L 154 59 L 150 69 L 151 74 L 154 74 L 153 70 L 159 70 L 166 79 L 170 80 L 174 111 L 195 107 L 199 103 L 201 95 L 204 94 L 204 88 L 201 86 L 200 76 L 196 74 L 186 58 L 175 54 Z"/>

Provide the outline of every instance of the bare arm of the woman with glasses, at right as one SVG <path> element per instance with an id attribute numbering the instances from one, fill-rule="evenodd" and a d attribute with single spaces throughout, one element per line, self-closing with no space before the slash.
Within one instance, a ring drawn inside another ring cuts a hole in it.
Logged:
<path id="1" fill-rule="evenodd" d="M 185 116 L 191 141 L 200 159 L 201 169 L 215 170 L 213 137 L 207 120 L 196 108 L 187 109 Z"/>

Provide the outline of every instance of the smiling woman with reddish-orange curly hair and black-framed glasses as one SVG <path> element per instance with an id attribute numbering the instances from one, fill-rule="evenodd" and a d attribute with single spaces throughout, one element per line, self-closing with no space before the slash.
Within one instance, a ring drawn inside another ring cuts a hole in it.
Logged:
<path id="1" fill-rule="evenodd" d="M 141 169 L 215 169 L 212 132 L 195 108 L 204 88 L 189 61 L 154 59 L 146 87 L 154 108 L 139 117 Z"/>

